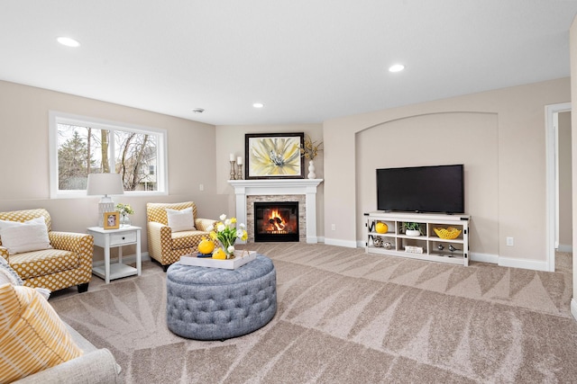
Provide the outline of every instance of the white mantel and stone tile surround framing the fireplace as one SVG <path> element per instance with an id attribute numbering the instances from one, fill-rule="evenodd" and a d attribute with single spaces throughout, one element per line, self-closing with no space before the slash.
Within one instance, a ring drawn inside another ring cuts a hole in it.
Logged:
<path id="1" fill-rule="evenodd" d="M 316 237 L 316 187 L 323 183 L 323 179 L 274 179 L 274 180 L 229 180 L 236 195 L 236 219 L 239 223 L 247 224 L 249 239 L 254 238 L 254 228 L 250 228 L 247 220 L 247 196 L 279 196 L 284 200 L 288 195 L 303 195 L 305 197 L 307 243 L 317 243 Z M 251 204 L 252 204 L 251 199 Z M 266 199 L 270 201 L 270 198 Z M 296 198 L 295 200 L 300 200 Z M 300 208 L 299 208 L 300 210 Z M 304 228 L 300 228 L 303 233 Z M 252 234 L 252 237 L 251 237 Z"/>

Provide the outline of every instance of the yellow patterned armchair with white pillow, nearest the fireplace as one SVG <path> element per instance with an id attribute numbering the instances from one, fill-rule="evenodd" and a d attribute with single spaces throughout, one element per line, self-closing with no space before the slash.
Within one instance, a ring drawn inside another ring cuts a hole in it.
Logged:
<path id="1" fill-rule="evenodd" d="M 213 219 L 197 218 L 194 201 L 146 204 L 148 253 L 162 265 L 164 272 L 180 256 L 198 251 L 198 243 L 208 237 Z"/>

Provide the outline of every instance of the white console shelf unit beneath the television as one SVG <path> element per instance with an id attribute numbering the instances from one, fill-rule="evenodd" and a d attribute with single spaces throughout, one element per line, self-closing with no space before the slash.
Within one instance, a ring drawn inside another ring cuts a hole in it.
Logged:
<path id="1" fill-rule="evenodd" d="M 375 211 L 364 214 L 367 228 L 365 251 L 370 254 L 409 257 L 441 263 L 469 265 L 468 215 L 445 215 L 435 213 L 403 213 Z M 387 233 L 378 233 L 376 224 L 387 224 Z M 405 223 L 418 223 L 420 236 L 408 236 Z M 435 228 L 457 228 L 458 237 L 438 237 Z"/>

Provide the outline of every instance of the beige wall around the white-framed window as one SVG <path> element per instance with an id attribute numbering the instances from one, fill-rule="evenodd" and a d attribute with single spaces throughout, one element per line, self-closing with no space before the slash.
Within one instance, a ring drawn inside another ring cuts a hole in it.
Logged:
<path id="1" fill-rule="evenodd" d="M 196 201 L 200 217 L 217 218 L 226 196 L 216 192 L 215 127 L 155 112 L 104 103 L 71 94 L 0 81 L 3 165 L 0 210 L 46 208 L 55 230 L 86 232 L 96 225 L 99 197 L 50 199 L 49 111 L 120 121 L 168 131 L 169 194 L 114 196 L 130 203 L 133 224 L 142 227 L 146 252 L 146 202 Z M 209 159 L 209 161 L 206 161 Z M 199 191 L 199 185 L 204 191 Z M 96 249 L 98 254 L 99 249 Z M 125 252 L 127 255 L 130 252 Z"/>

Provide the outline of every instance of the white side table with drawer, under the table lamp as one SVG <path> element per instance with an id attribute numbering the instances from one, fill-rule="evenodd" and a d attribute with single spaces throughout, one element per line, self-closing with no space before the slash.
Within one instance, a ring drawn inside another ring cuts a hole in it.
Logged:
<path id="1" fill-rule="evenodd" d="M 142 273 L 141 261 L 141 228 L 134 226 L 121 227 L 118 229 L 105 229 L 101 227 L 87 228 L 88 234 L 94 237 L 94 245 L 105 250 L 105 264 L 92 267 L 92 273 L 109 283 L 111 280 L 121 277 L 138 275 Z M 123 246 L 136 245 L 136 268 L 123 263 Z M 110 248 L 118 247 L 118 263 L 110 264 Z"/>

